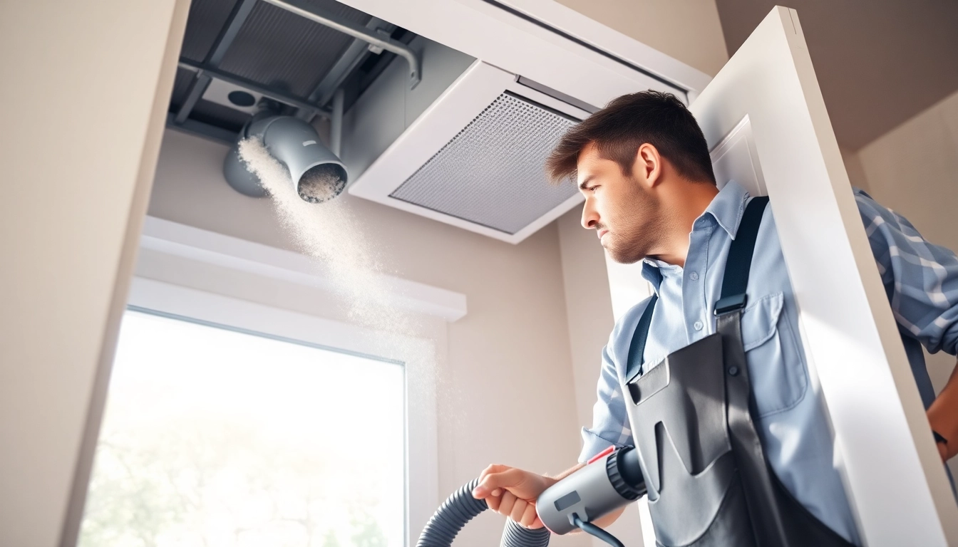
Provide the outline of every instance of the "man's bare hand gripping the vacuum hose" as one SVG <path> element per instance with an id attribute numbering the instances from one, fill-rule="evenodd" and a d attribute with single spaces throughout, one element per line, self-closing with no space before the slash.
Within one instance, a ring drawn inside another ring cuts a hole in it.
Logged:
<path id="1" fill-rule="evenodd" d="M 485 499 L 492 511 L 505 514 L 526 528 L 542 528 L 536 514 L 536 498 L 557 482 L 559 479 L 515 467 L 493 465 L 479 475 L 472 497 Z"/>

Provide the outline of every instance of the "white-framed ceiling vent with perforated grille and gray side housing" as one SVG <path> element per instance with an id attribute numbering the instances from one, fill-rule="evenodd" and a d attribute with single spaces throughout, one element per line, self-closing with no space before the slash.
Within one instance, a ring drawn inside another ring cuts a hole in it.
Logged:
<path id="1" fill-rule="evenodd" d="M 343 156 L 347 191 L 518 243 L 582 203 L 575 184 L 549 182 L 545 161 L 595 108 L 453 53 L 426 48 L 434 68 L 412 92 L 387 71 L 359 99 L 344 124 L 344 152 L 359 152 Z"/>

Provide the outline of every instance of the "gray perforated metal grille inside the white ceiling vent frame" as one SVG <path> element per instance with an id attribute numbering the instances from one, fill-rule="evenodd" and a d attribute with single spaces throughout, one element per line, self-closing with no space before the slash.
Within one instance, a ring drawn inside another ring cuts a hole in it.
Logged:
<path id="1" fill-rule="evenodd" d="M 515 234 L 578 192 L 550 184 L 543 171 L 577 122 L 503 93 L 390 197 Z"/>

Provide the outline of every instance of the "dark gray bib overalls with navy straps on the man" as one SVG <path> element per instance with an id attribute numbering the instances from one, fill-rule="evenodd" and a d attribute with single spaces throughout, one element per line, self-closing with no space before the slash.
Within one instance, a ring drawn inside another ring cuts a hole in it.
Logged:
<path id="1" fill-rule="evenodd" d="M 741 312 L 767 203 L 748 203 L 729 249 L 718 331 L 641 374 L 653 296 L 629 347 L 623 394 L 656 542 L 665 547 L 851 545 L 786 490 L 752 422 Z"/>

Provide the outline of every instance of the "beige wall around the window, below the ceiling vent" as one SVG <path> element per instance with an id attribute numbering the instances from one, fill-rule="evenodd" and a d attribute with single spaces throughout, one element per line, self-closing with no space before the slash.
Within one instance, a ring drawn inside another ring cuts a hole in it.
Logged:
<path id="1" fill-rule="evenodd" d="M 266 199 L 238 194 L 223 180 L 225 152 L 168 131 L 149 215 L 295 250 Z M 387 269 L 468 297 L 467 316 L 447 326 L 437 409 L 441 497 L 492 463 L 542 473 L 575 463 L 579 425 L 556 227 L 511 245 L 348 194 L 337 199 L 350 203 Z M 460 541 L 498 541 L 502 524 L 481 515 Z"/>

